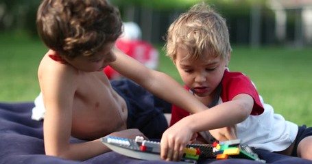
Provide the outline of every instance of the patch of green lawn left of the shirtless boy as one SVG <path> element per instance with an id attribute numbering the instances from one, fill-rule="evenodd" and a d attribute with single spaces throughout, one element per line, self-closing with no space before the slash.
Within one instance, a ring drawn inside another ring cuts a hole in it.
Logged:
<path id="1" fill-rule="evenodd" d="M 0 101 L 34 100 L 40 92 L 37 68 L 47 49 L 23 33 L 0 33 Z"/>

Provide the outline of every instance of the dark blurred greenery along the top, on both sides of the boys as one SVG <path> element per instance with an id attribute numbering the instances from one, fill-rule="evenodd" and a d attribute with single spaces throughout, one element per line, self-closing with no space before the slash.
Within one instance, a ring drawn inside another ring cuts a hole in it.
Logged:
<path id="1" fill-rule="evenodd" d="M 200 1 L 211 4 L 227 20 L 230 40 L 233 44 L 250 44 L 259 46 L 263 43 L 273 44 L 276 40 L 274 14 L 267 8 L 269 0 L 108 0 L 121 11 L 124 21 L 134 21 L 142 29 L 142 38 L 149 42 L 162 44 L 169 25 L 191 5 Z M 290 1 L 290 0 L 289 0 Z M 294 1 L 294 0 L 293 0 Z M 0 30 L 23 30 L 31 36 L 36 32 L 36 11 L 39 0 L 0 0 Z M 299 24 L 287 19 L 287 31 L 297 31 L 291 27 Z M 273 26 L 273 27 L 272 27 Z M 307 28 L 307 27 L 306 27 Z M 298 29 L 298 28 L 296 28 Z M 292 34 L 293 36 L 299 36 Z M 289 36 L 289 35 L 288 35 Z M 291 35 L 290 35 L 291 36 Z M 294 38 L 294 37 L 293 37 Z M 297 37 L 297 40 L 301 38 Z M 312 37 L 311 37 L 312 38 Z M 312 41 L 311 41 L 312 42 Z"/>

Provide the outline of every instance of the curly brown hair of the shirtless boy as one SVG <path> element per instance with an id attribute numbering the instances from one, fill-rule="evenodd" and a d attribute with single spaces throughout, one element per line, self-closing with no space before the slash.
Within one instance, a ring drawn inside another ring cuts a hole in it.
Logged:
<path id="1" fill-rule="evenodd" d="M 106 0 L 45 0 L 36 24 L 46 46 L 70 58 L 94 55 L 122 33 L 119 10 Z"/>

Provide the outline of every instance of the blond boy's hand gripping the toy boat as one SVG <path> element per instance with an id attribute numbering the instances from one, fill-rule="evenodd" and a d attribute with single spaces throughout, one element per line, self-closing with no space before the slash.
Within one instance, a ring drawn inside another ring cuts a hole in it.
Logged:
<path id="1" fill-rule="evenodd" d="M 193 133 L 186 126 L 168 128 L 160 141 L 160 157 L 166 161 L 180 161 L 187 143 L 194 141 L 197 133 Z"/>

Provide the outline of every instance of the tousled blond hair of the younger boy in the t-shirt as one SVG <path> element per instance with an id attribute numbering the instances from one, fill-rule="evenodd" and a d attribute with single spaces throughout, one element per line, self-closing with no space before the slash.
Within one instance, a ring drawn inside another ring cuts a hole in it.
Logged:
<path id="1" fill-rule="evenodd" d="M 193 5 L 167 31 L 165 50 L 173 61 L 178 48 L 188 52 L 185 59 L 199 59 L 204 50 L 226 59 L 232 51 L 226 20 L 204 2 Z"/>

